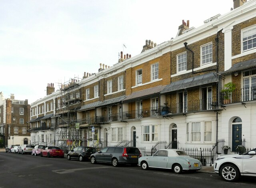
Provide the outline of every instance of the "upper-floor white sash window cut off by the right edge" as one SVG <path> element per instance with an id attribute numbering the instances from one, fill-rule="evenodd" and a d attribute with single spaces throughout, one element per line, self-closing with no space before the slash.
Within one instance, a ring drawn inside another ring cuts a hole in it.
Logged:
<path id="1" fill-rule="evenodd" d="M 246 35 L 246 39 L 244 38 L 245 35 Z M 248 41 L 252 42 L 253 39 L 256 40 L 256 24 L 241 30 L 241 52 L 246 52 L 248 50 L 252 50 L 252 49 L 256 48 L 256 42 L 251 43 L 252 47 L 248 48 Z M 244 49 L 244 42 L 247 42 L 246 49 Z M 254 47 L 253 47 L 253 45 L 254 45 Z"/>

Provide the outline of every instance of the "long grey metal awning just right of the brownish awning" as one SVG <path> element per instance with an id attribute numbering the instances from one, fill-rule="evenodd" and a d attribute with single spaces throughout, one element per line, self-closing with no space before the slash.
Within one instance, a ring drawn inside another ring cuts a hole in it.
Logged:
<path id="1" fill-rule="evenodd" d="M 210 72 L 208 74 L 203 74 L 200 76 L 195 76 L 184 80 L 179 80 L 177 82 L 172 82 L 171 84 L 167 85 L 160 93 L 168 93 L 176 90 L 191 88 L 194 86 L 200 86 L 203 84 L 209 84 L 217 81 L 217 74 L 215 72 Z"/>

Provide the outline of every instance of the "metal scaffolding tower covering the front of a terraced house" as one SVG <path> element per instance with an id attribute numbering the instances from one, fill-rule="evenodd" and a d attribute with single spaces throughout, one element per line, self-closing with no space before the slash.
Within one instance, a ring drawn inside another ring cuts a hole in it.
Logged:
<path id="1" fill-rule="evenodd" d="M 76 77 L 59 84 L 60 96 L 57 98 L 56 107 L 55 144 L 65 152 L 84 142 L 82 130 L 76 117 L 76 110 L 82 101 L 80 82 L 81 79 Z"/>

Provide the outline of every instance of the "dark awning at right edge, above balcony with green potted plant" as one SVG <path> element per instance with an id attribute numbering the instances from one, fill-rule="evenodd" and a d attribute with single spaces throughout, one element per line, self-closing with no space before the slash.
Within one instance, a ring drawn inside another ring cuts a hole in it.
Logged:
<path id="1" fill-rule="evenodd" d="M 243 61 L 240 63 L 236 63 L 230 69 L 223 71 L 223 72 L 219 72 L 218 74 L 219 75 L 220 74 L 229 74 L 232 72 L 246 70 L 246 69 L 255 68 L 255 67 L 256 67 L 256 59 L 251 59 L 251 60 Z"/>

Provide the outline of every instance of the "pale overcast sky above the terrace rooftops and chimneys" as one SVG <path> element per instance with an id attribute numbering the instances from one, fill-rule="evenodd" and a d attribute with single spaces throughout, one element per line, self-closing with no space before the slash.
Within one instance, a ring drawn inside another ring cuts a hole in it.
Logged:
<path id="1" fill-rule="evenodd" d="M 116 64 L 123 50 L 140 54 L 146 39 L 175 38 L 182 20 L 197 28 L 232 7 L 233 0 L 0 0 L 0 92 L 31 104 L 48 83 L 58 90 L 100 63 Z"/>

